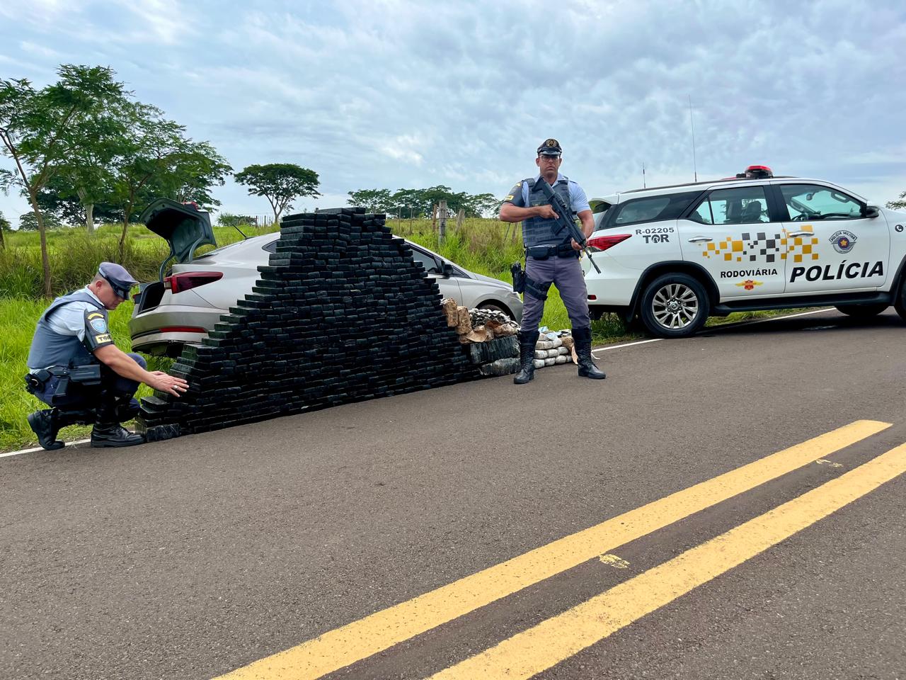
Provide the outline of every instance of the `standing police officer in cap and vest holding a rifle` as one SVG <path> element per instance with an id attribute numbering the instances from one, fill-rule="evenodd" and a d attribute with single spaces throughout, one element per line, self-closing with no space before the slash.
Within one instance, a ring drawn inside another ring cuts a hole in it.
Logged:
<path id="1" fill-rule="evenodd" d="M 585 237 L 594 229 L 592 208 L 582 187 L 560 174 L 563 162 L 560 142 L 545 140 L 537 150 L 535 165 L 540 172 L 533 179 L 522 180 L 510 189 L 500 207 L 500 219 L 522 222 L 525 245 L 525 307 L 522 330 L 519 332 L 519 373 L 516 384 L 525 384 L 535 377 L 535 344 L 538 323 L 545 311 L 547 289 L 553 283 L 560 291 L 573 325 L 575 354 L 579 360 L 579 375 L 600 380 L 605 374 L 592 359 L 592 319 L 588 314 L 588 292 L 579 264 L 582 247 L 557 224 L 557 214 L 545 198 L 541 182 L 547 182 L 564 205 L 582 221 Z"/>

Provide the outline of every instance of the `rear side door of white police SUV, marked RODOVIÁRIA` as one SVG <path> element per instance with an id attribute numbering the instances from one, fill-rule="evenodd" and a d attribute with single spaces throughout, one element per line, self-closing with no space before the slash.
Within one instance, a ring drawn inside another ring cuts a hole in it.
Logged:
<path id="1" fill-rule="evenodd" d="M 683 259 L 705 267 L 721 300 L 784 292 L 783 225 L 760 184 L 711 189 L 680 219 Z"/>

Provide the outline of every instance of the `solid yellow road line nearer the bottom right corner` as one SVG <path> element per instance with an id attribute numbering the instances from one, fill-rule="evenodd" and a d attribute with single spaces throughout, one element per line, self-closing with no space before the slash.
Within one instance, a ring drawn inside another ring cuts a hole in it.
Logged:
<path id="1" fill-rule="evenodd" d="M 906 444 L 429 680 L 530 678 L 906 472 Z"/>

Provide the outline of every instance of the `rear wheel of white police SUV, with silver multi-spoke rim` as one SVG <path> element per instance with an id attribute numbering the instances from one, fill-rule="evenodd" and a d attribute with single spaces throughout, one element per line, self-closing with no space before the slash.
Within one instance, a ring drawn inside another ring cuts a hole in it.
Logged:
<path id="1" fill-rule="evenodd" d="M 705 325 L 710 306 L 698 280 L 688 274 L 666 274 L 645 287 L 641 321 L 656 337 L 689 337 Z"/>

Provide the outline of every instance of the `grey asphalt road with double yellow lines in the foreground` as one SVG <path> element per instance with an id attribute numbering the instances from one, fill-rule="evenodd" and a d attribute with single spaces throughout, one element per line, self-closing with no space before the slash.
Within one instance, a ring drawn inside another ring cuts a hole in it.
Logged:
<path id="1" fill-rule="evenodd" d="M 906 678 L 904 332 L 2 458 L 0 677 Z"/>

